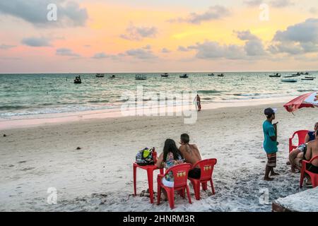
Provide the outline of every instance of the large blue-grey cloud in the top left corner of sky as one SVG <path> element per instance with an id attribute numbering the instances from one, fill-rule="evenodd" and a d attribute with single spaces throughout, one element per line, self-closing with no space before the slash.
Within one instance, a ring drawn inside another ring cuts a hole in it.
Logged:
<path id="1" fill-rule="evenodd" d="M 21 18 L 38 27 L 45 26 L 83 26 L 88 20 L 86 8 L 81 8 L 74 1 L 55 0 L 57 6 L 57 20 L 47 20 L 50 10 L 47 6 L 51 0 L 10 0 L 0 1 L 0 12 Z"/>

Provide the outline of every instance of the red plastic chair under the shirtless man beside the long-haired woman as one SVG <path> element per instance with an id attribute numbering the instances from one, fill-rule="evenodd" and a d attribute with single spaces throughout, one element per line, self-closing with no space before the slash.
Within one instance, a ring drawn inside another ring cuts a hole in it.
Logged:
<path id="1" fill-rule="evenodd" d="M 196 164 L 192 167 L 192 169 L 194 169 L 197 166 L 199 166 L 199 168 L 201 169 L 200 179 L 194 179 L 189 177 L 189 180 L 192 182 L 192 185 L 194 187 L 194 194 L 196 196 L 196 200 L 200 200 L 200 184 L 202 184 L 202 189 L 206 191 L 208 189 L 208 182 L 210 182 L 212 194 L 216 194 L 216 191 L 214 191 L 212 180 L 213 169 L 214 165 L 216 165 L 216 162 L 216 158 L 201 160 L 199 162 L 196 162 Z"/>

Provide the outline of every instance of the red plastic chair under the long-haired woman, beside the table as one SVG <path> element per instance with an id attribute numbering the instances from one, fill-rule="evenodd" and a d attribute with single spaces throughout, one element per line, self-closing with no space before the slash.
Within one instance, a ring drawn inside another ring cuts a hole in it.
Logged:
<path id="1" fill-rule="evenodd" d="M 173 173 L 173 179 L 174 179 L 174 187 L 170 188 L 163 185 L 162 179 L 165 177 L 163 174 L 158 175 L 158 201 L 157 204 L 160 204 L 160 196 L 161 196 L 161 188 L 165 189 L 167 191 L 167 198 L 170 204 L 170 208 L 175 208 L 175 191 L 179 191 L 179 194 L 184 198 L 185 192 L 184 189 L 187 189 L 187 196 L 189 199 L 189 203 L 192 203 L 191 197 L 190 197 L 190 191 L 189 186 L 187 184 L 187 178 L 188 178 L 188 172 L 191 168 L 191 164 L 184 163 L 180 165 L 175 165 L 174 167 L 170 167 L 165 172 L 165 175 L 167 175 L 169 172 Z"/>

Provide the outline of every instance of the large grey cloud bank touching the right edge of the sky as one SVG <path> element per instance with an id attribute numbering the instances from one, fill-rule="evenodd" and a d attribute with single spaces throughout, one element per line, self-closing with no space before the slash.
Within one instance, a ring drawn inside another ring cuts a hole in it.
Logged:
<path id="1" fill-rule="evenodd" d="M 318 51 L 318 19 L 309 18 L 305 22 L 278 30 L 269 47 L 272 53 L 305 54 Z"/>

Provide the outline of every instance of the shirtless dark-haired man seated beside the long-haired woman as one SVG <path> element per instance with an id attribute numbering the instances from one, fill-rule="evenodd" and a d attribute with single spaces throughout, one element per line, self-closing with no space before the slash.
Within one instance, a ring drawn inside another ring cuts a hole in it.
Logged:
<path id="1" fill-rule="evenodd" d="M 196 164 L 202 160 L 198 147 L 195 144 L 189 144 L 190 138 L 187 133 L 183 133 L 180 136 L 180 148 L 179 151 L 184 157 L 184 161 L 191 165 Z M 201 169 L 194 168 L 189 171 L 188 177 L 199 179 L 201 177 Z"/>

